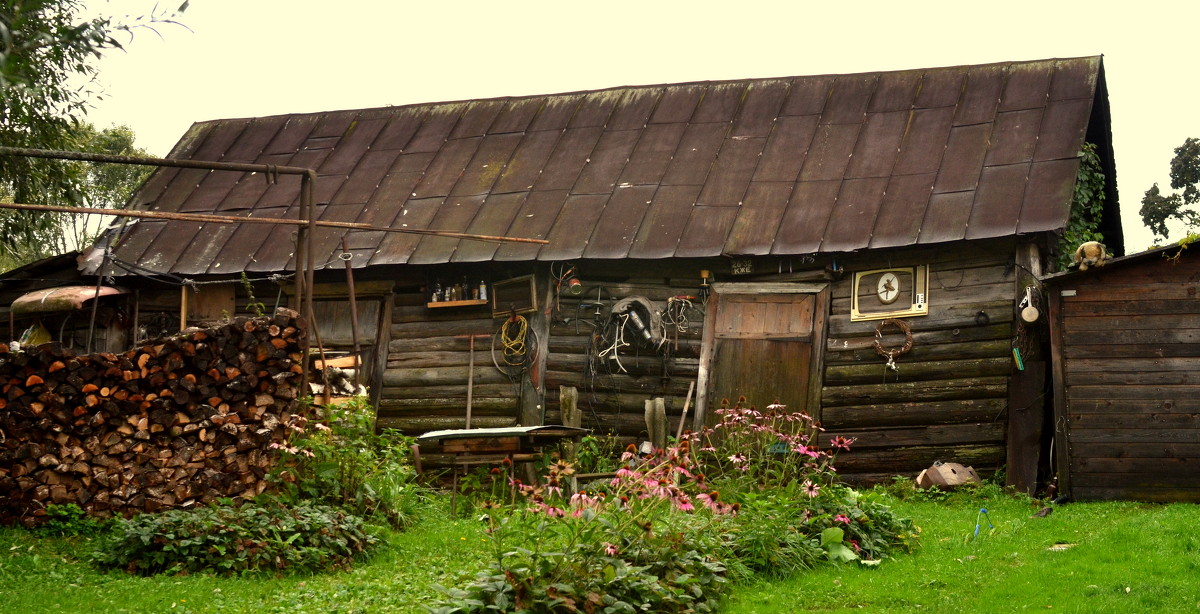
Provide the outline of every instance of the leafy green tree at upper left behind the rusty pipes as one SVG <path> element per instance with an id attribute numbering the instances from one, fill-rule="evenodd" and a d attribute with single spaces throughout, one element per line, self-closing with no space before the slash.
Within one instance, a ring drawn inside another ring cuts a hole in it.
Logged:
<path id="1" fill-rule="evenodd" d="M 184 11 L 187 2 L 179 7 Z M 0 4 L 0 143 L 78 150 L 89 102 L 101 96 L 92 62 L 132 38 L 138 28 L 176 23 L 166 12 L 121 23 L 84 17 L 82 0 L 7 0 Z M 80 88 L 79 82 L 84 85 Z M 0 156 L 0 195 L 16 203 L 82 205 L 89 173 L 80 164 Z M 56 216 L 0 216 L 0 255 L 37 247 Z"/>

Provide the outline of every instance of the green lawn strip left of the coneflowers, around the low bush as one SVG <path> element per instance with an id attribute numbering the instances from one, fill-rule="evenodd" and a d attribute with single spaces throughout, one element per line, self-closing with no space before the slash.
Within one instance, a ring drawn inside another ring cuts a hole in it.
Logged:
<path id="1" fill-rule="evenodd" d="M 368 564 L 307 577 L 160 576 L 101 572 L 86 564 L 86 540 L 37 538 L 0 530 L 0 612 L 296 613 L 420 612 L 434 583 L 454 583 L 478 566 L 482 526 L 427 519 L 391 534 Z"/>

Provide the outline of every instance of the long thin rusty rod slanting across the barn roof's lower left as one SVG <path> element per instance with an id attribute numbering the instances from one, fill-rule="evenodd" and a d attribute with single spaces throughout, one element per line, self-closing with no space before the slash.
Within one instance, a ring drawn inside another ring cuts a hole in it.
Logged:
<path id="1" fill-rule="evenodd" d="M 103 209 L 103 207 L 89 207 L 89 206 L 65 206 L 65 205 L 30 205 L 22 203 L 0 203 L 0 209 L 16 209 L 24 211 L 52 211 L 58 213 L 88 213 L 88 215 L 103 215 L 114 217 L 144 217 L 151 219 L 170 219 L 176 222 L 199 222 L 199 223 L 214 223 L 214 224 L 284 224 L 284 225 L 310 225 L 308 219 L 288 219 L 283 217 L 240 217 L 240 216 L 218 216 L 214 213 L 173 213 L 166 211 L 139 211 L 139 210 L 125 210 L 125 209 Z M 470 239 L 475 241 L 494 241 L 494 242 L 517 242 L 517 243 L 539 243 L 546 245 L 550 241 L 545 239 L 522 239 L 512 236 L 492 236 L 492 235 L 475 235 L 467 233 L 452 233 L 449 230 L 430 230 L 422 228 L 391 228 L 385 225 L 372 225 L 362 224 L 358 222 L 329 222 L 323 219 L 317 219 L 312 222 L 314 225 L 322 228 L 346 228 L 350 230 L 378 230 L 380 233 L 408 233 L 414 235 L 433 235 L 444 236 L 450 239 Z"/>

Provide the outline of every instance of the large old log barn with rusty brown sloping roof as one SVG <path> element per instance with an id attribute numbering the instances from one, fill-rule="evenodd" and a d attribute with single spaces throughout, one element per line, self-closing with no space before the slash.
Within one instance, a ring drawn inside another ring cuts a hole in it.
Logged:
<path id="1" fill-rule="evenodd" d="M 1098 56 L 203 121 L 170 157 L 316 169 L 319 219 L 361 224 L 314 235 L 314 320 L 380 425 L 557 423 L 571 386 L 584 427 L 632 439 L 648 399 L 673 426 L 744 396 L 856 438 L 852 478 L 941 459 L 1032 488 L 1044 343 L 1014 313 L 1085 144 L 1120 252 Z M 298 218 L 299 193 L 163 168 L 133 204 Z M 146 218 L 82 270 L 143 331 L 288 305 L 294 254 L 290 227 Z"/>

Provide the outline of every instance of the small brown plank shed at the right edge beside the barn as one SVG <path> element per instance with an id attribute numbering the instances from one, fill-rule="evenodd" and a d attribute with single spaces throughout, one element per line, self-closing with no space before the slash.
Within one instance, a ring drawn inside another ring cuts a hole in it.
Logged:
<path id="1" fill-rule="evenodd" d="M 1192 252 L 1151 249 L 1045 279 L 1063 494 L 1200 501 L 1200 259 Z"/>

